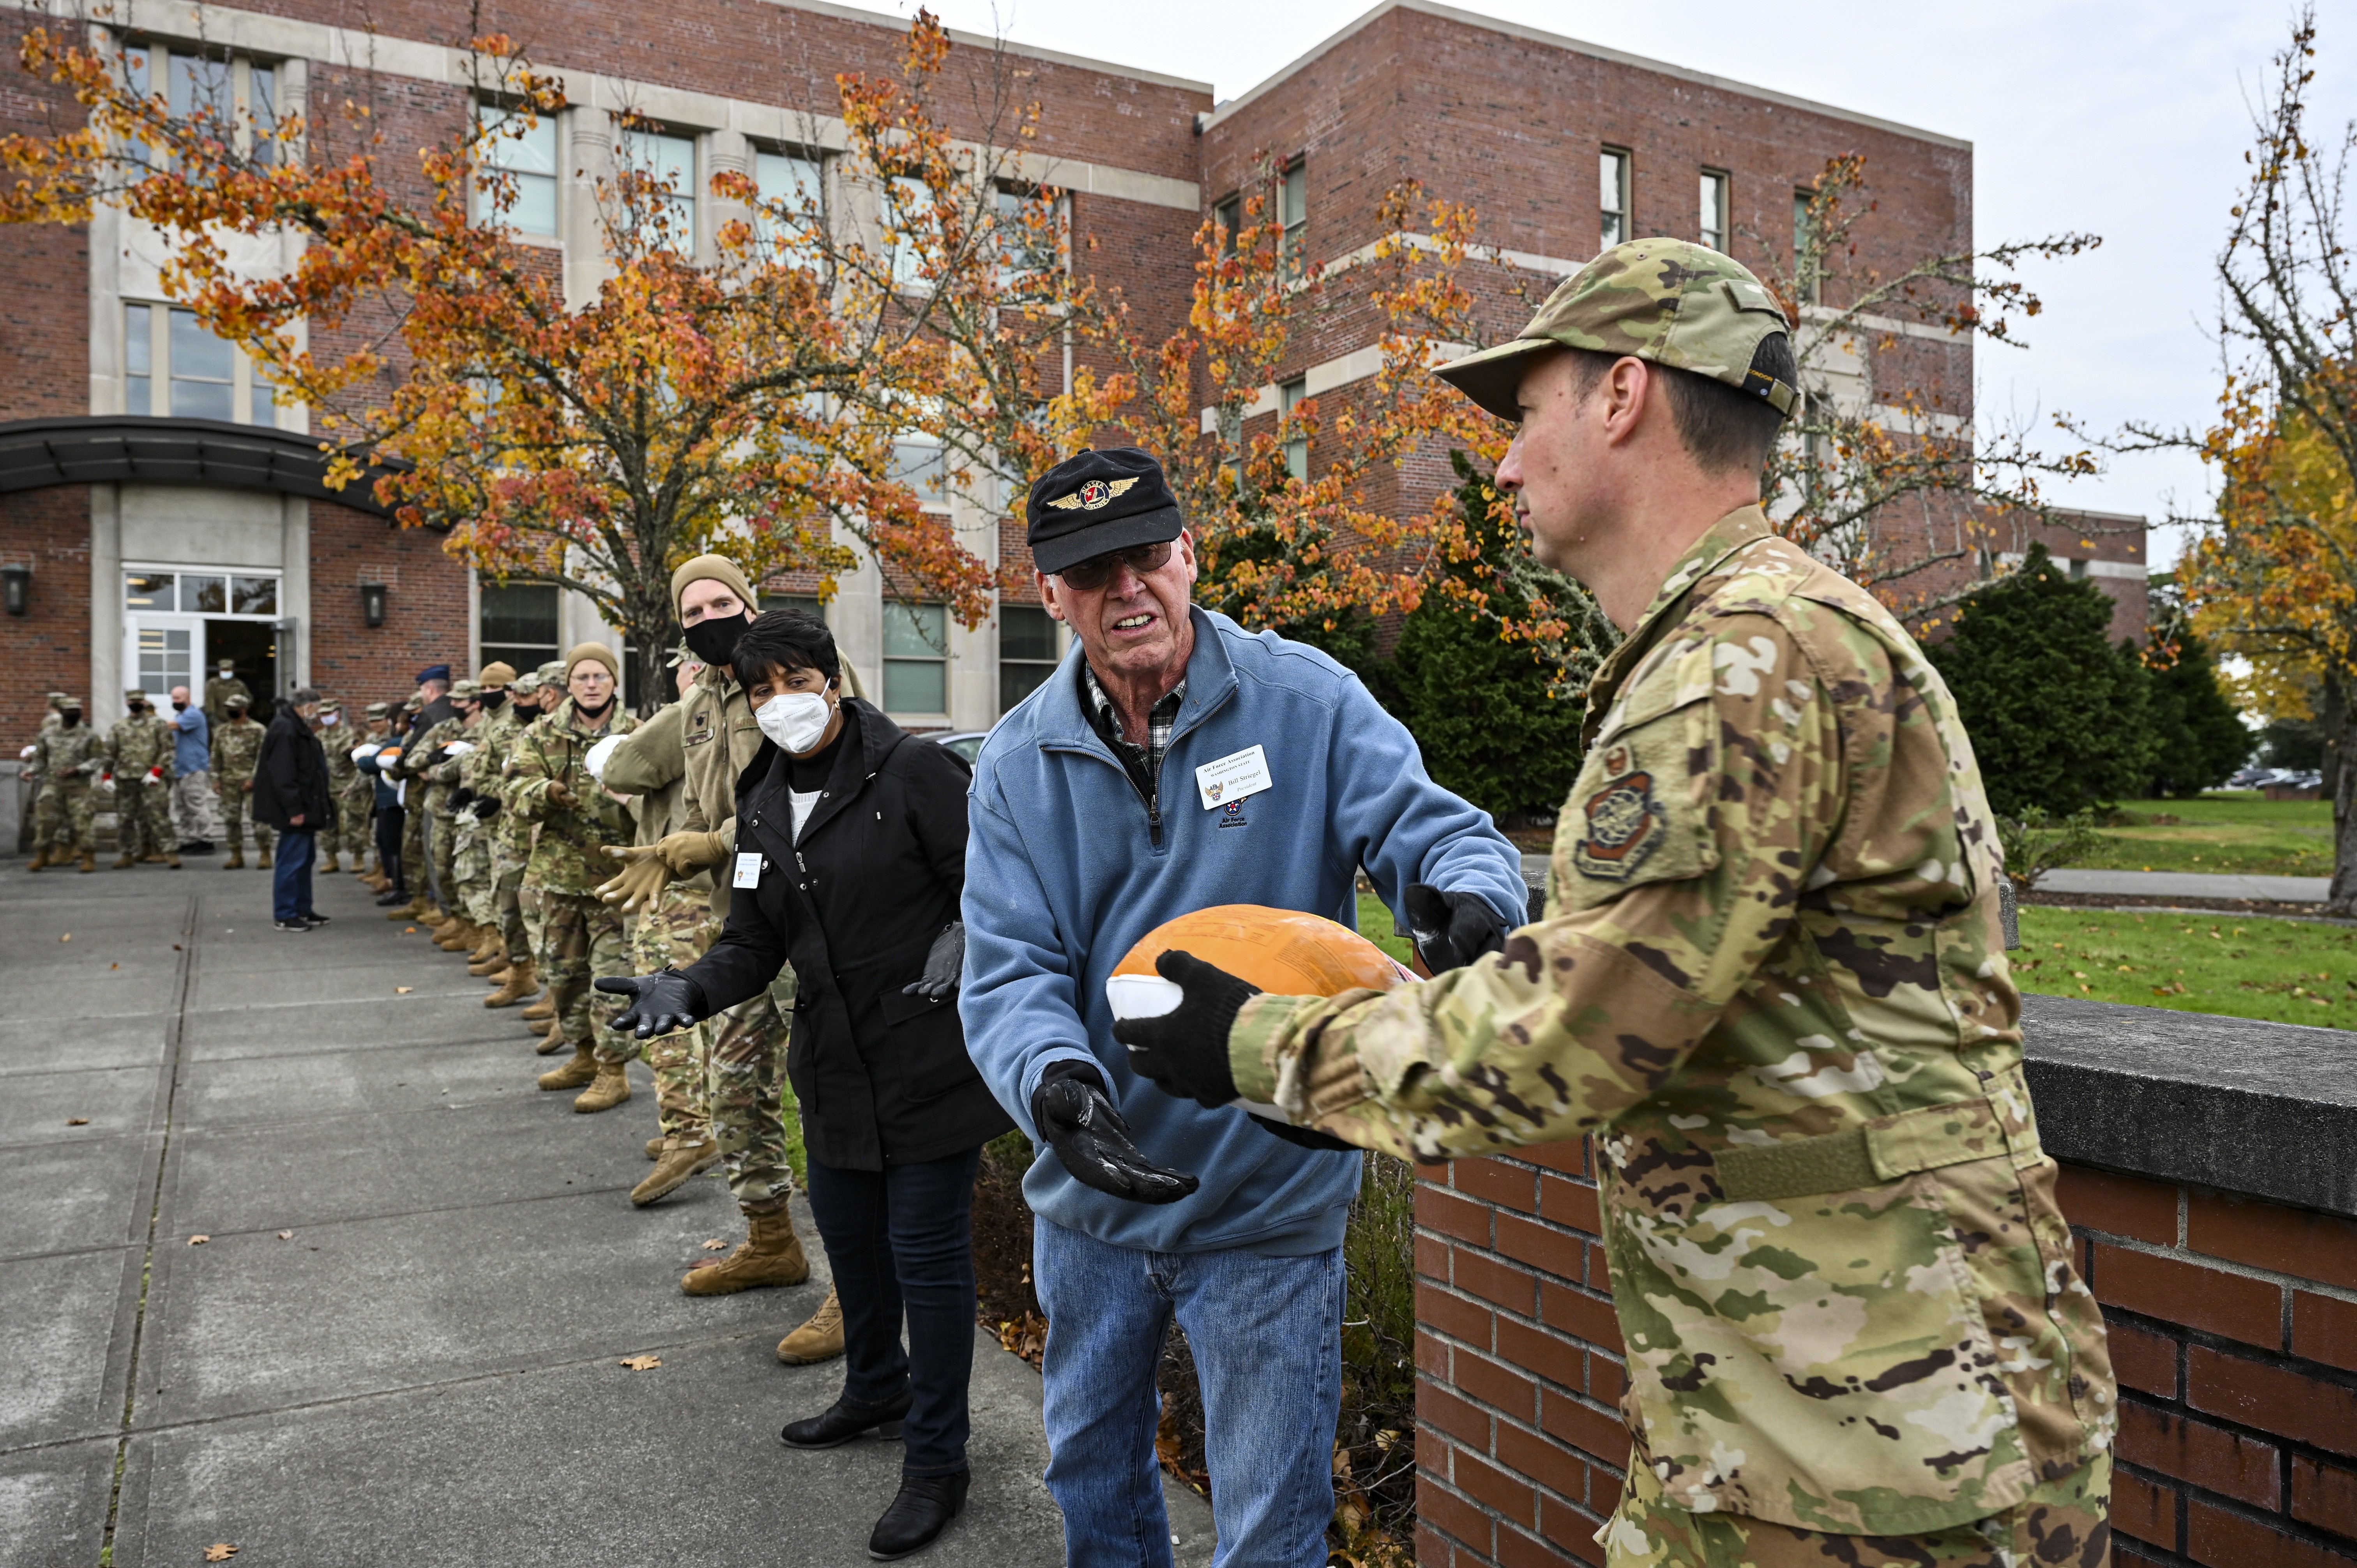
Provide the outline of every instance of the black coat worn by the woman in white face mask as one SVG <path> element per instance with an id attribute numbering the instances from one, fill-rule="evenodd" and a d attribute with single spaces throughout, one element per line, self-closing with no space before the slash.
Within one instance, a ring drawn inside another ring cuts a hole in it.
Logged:
<path id="1" fill-rule="evenodd" d="M 766 740 L 738 776 L 735 846 L 761 858 L 761 882 L 735 889 L 721 938 L 686 971 L 707 1016 L 794 964 L 785 1070 L 820 1165 L 882 1170 L 988 1144 L 1014 1122 L 966 1056 L 957 993 L 900 993 L 957 920 L 971 771 L 846 698 L 834 771 L 799 844 L 790 778 Z"/>

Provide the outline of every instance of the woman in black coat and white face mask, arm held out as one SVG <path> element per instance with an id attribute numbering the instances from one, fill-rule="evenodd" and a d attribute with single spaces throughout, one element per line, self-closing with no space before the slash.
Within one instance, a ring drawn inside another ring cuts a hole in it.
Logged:
<path id="1" fill-rule="evenodd" d="M 867 1549 L 905 1556 L 966 1497 L 973 1174 L 1011 1127 L 957 1021 L 969 771 L 841 698 L 834 639 L 806 615 L 761 615 L 728 663 L 766 736 L 738 776 L 728 927 L 686 971 L 599 988 L 636 997 L 615 1028 L 648 1037 L 794 964 L 785 1070 L 844 1309 L 844 1394 L 783 1436 L 834 1448 L 900 1429 L 900 1493 Z"/>

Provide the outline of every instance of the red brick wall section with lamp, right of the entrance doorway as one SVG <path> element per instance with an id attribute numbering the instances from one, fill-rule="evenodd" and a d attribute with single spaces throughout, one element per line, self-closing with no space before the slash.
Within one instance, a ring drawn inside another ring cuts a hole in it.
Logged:
<path id="1" fill-rule="evenodd" d="M 361 585 L 384 585 L 384 625 Z M 396 703 L 427 665 L 467 667 L 467 566 L 431 528 L 311 502 L 311 684 L 344 703 Z M 467 670 L 471 674 L 471 670 Z"/>

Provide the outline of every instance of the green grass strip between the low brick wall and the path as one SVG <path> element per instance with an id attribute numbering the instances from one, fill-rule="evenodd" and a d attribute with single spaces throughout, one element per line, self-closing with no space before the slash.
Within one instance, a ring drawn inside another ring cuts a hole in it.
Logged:
<path id="1" fill-rule="evenodd" d="M 2357 1028 L 2357 927 L 2025 905 L 2013 981 L 2048 997 Z"/>

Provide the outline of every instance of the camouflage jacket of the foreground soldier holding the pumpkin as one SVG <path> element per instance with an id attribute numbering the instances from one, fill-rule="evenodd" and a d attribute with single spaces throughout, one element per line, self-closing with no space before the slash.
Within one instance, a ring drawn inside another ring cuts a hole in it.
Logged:
<path id="1" fill-rule="evenodd" d="M 1546 920 L 1424 986 L 1252 997 L 1237 1089 L 1426 1160 L 1593 1132 L 1622 1415 L 1673 1507 L 1902 1535 L 2072 1474 L 2112 1368 L 1947 686 L 1744 507 L 1589 714 Z"/>

